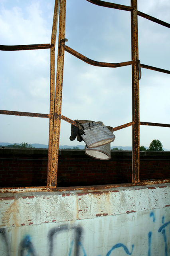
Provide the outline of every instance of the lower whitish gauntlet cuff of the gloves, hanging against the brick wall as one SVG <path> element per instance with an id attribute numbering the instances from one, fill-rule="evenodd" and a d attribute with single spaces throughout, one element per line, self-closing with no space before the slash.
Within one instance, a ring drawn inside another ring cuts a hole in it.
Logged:
<path id="1" fill-rule="evenodd" d="M 85 154 L 95 159 L 109 160 L 111 159 L 111 144 L 105 144 L 96 148 L 87 148 L 85 146 Z"/>

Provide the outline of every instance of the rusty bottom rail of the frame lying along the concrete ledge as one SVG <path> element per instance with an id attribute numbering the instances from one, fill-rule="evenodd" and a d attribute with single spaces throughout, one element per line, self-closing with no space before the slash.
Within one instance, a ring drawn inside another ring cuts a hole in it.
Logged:
<path id="1" fill-rule="evenodd" d="M 170 179 L 159 179 L 159 180 L 144 180 L 142 182 L 134 183 L 121 183 L 111 185 L 94 185 L 94 186 L 77 186 L 77 187 L 58 187 L 58 188 L 47 188 L 45 186 L 40 187 L 18 187 L 18 188 L 0 188 L 1 193 L 25 193 L 25 192 L 64 192 L 64 191 L 82 191 L 84 193 L 93 191 L 109 190 L 114 188 L 130 188 L 138 186 L 150 186 L 170 183 Z M 170 186 L 165 184 L 164 186 Z M 149 188 L 149 187 L 148 187 Z M 138 188 L 137 188 L 138 189 Z"/>

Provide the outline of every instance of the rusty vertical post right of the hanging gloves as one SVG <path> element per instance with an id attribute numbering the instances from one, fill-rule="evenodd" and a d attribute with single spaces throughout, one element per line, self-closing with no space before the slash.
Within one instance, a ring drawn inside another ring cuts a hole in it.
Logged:
<path id="1" fill-rule="evenodd" d="M 138 13 L 137 0 L 131 0 L 132 48 L 132 182 L 139 182 L 139 80 L 138 80 Z"/>

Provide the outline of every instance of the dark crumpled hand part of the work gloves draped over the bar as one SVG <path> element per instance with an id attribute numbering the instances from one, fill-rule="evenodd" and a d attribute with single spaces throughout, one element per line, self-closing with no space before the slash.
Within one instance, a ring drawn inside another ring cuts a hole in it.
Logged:
<path id="1" fill-rule="evenodd" d="M 103 122 L 98 121 L 91 121 L 91 120 L 75 120 L 75 122 L 77 123 L 77 126 L 74 126 L 73 124 L 71 124 L 71 136 L 70 136 L 70 140 L 75 140 L 75 138 L 77 137 L 77 140 L 79 142 L 81 142 L 83 139 L 81 138 L 82 134 L 85 134 L 84 130 L 90 127 L 94 127 L 94 126 L 101 126 L 103 125 Z M 113 127 L 111 126 L 107 126 L 107 128 L 113 132 Z"/>

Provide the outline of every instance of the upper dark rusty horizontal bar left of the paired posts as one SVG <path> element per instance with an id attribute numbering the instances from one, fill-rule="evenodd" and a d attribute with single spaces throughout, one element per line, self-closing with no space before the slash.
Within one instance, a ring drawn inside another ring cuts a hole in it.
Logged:
<path id="1" fill-rule="evenodd" d="M 39 50 L 39 49 L 49 49 L 51 44 L 27 44 L 27 45 L 1 45 L 1 51 L 23 51 L 23 50 Z"/>

